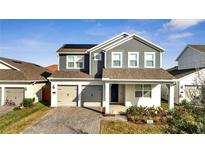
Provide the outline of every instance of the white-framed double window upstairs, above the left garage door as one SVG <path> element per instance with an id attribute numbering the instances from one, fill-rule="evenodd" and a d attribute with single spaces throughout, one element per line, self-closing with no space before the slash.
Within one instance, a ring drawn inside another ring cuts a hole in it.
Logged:
<path id="1" fill-rule="evenodd" d="M 84 56 L 83 55 L 68 55 L 67 56 L 67 69 L 84 69 Z"/>

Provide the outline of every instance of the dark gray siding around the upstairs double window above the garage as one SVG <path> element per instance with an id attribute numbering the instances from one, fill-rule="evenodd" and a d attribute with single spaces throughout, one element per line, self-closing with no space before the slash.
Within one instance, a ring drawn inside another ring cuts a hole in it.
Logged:
<path id="1" fill-rule="evenodd" d="M 79 71 L 79 69 L 66 69 L 66 56 L 67 56 L 66 54 L 59 55 L 59 70 L 60 71 Z M 80 71 L 89 72 L 89 55 L 88 54 L 85 54 L 84 56 L 84 69 Z"/>

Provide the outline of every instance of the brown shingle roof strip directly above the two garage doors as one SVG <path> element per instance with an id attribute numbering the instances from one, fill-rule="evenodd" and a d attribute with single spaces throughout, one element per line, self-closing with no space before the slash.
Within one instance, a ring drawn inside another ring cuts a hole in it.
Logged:
<path id="1" fill-rule="evenodd" d="M 81 71 L 55 71 L 50 77 L 53 78 L 101 78 L 101 75 L 90 75 Z"/>

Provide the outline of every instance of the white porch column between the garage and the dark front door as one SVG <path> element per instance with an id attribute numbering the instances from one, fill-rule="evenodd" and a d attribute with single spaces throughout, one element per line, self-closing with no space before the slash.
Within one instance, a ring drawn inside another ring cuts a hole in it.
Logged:
<path id="1" fill-rule="evenodd" d="M 105 107 L 105 114 L 109 114 L 110 112 L 110 83 L 105 83 L 104 85 L 104 101 L 103 107 Z"/>

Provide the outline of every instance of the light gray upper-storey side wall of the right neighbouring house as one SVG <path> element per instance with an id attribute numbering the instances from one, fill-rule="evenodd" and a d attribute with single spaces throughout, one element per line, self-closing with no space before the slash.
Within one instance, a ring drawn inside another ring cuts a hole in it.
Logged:
<path id="1" fill-rule="evenodd" d="M 199 68 L 205 66 L 205 54 L 192 48 L 186 48 L 178 59 L 179 69 Z"/>

